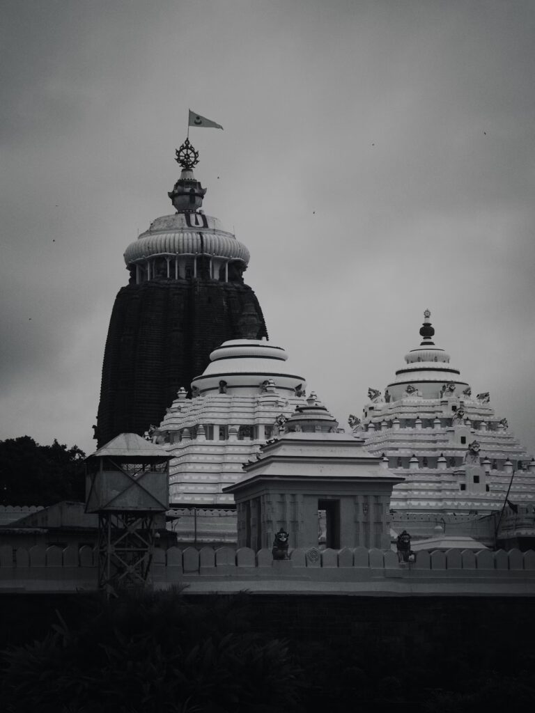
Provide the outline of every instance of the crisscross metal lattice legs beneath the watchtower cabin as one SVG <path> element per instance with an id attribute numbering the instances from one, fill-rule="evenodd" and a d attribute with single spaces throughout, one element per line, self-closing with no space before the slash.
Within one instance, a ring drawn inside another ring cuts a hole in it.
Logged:
<path id="1" fill-rule="evenodd" d="M 98 586 L 108 596 L 151 583 L 156 513 L 98 513 Z"/>

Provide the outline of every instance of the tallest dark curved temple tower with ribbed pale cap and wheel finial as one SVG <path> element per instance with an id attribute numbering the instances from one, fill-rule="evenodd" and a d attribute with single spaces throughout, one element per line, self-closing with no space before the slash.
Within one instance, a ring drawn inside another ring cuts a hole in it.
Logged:
<path id="1" fill-rule="evenodd" d="M 182 172 L 168 193 L 176 212 L 156 218 L 124 254 L 130 279 L 108 329 L 99 446 L 159 424 L 222 342 L 267 337 L 258 299 L 243 282 L 249 251 L 202 210 L 206 189 L 193 175 L 198 152 L 188 139 L 176 160 Z"/>

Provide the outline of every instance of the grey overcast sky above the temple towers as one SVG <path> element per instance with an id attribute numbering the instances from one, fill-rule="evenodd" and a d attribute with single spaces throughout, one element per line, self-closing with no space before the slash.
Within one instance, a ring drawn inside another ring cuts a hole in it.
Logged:
<path id="1" fill-rule="evenodd" d="M 173 212 L 188 107 L 205 210 L 272 342 L 342 425 L 432 310 L 535 449 L 532 0 L 4 0 L 0 438 L 94 449 L 123 251 Z"/>

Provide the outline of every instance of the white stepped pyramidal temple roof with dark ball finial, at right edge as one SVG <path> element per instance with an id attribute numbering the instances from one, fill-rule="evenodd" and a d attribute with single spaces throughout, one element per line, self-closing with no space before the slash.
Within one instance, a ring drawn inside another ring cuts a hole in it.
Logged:
<path id="1" fill-rule="evenodd" d="M 501 511 L 511 486 L 509 501 L 519 516 L 531 518 L 521 536 L 535 538 L 535 460 L 496 415 L 488 392 L 472 394 L 432 341 L 430 313 L 424 317 L 422 342 L 405 356 L 406 366 L 384 396 L 370 389 L 362 421 L 350 417 L 370 452 L 405 477 L 392 493 L 393 526 L 431 536 L 443 522 L 488 540 L 494 536 L 492 513 Z M 506 512 L 504 523 L 508 517 Z"/>

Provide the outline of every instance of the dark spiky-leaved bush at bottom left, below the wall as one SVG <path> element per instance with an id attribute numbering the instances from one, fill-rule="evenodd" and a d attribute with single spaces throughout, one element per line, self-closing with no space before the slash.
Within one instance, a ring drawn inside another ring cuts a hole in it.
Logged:
<path id="1" fill-rule="evenodd" d="M 58 612 L 43 641 L 4 652 L 4 710 L 295 709 L 299 671 L 287 644 L 251 631 L 240 602 L 190 605 L 171 591 L 89 604 L 80 625 Z"/>

